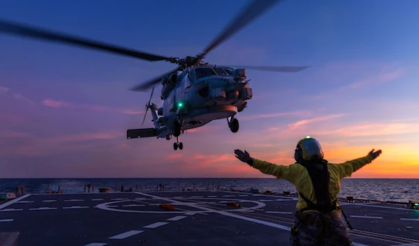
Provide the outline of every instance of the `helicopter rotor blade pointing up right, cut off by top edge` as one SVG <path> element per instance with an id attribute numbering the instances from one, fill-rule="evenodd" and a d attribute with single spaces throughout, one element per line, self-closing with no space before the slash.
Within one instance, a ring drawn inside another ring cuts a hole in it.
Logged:
<path id="1" fill-rule="evenodd" d="M 242 13 L 237 15 L 235 19 L 224 29 L 219 36 L 217 36 L 210 45 L 204 50 L 203 54 L 207 54 L 216 46 L 220 45 L 230 36 L 233 36 L 237 31 L 240 31 L 244 26 L 249 24 L 252 20 L 256 19 L 259 15 L 265 12 L 268 8 L 274 6 L 282 0 L 252 0 L 251 3 L 242 10 Z"/>

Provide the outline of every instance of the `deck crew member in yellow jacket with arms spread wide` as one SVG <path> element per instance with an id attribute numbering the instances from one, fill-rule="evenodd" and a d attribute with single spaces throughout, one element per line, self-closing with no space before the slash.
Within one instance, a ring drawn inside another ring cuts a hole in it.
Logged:
<path id="1" fill-rule="evenodd" d="M 373 149 L 365 157 L 332 164 L 323 159 L 323 150 L 318 141 L 307 136 L 298 141 L 295 163 L 289 166 L 253 159 L 247 151 L 235 150 L 235 154 L 239 160 L 263 174 L 285 179 L 295 185 L 298 201 L 295 224 L 291 226 L 291 245 L 353 246 L 341 220 L 341 207 L 337 201 L 341 179 L 350 177 L 354 171 L 372 162 L 381 154 L 381 150 L 374 152 Z"/>

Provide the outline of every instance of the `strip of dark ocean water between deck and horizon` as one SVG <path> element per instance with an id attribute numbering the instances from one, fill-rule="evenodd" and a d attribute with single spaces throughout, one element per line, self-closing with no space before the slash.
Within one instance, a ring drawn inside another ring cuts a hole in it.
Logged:
<path id="1" fill-rule="evenodd" d="M 272 192 L 289 191 L 295 193 L 295 187 L 286 180 L 276 178 L 2 178 L 0 193 L 14 192 L 17 185 L 25 185 L 27 194 L 44 193 L 47 186 L 58 190 L 60 185 L 64 193 L 82 193 L 84 185 L 91 183 L 95 192 L 99 187 L 110 187 L 118 192 L 138 185 L 140 191 L 156 190 L 158 184 L 164 184 L 166 190 L 184 188 L 205 190 L 207 185 L 222 189 L 250 190 L 264 189 Z M 344 178 L 341 181 L 339 197 L 353 196 L 354 199 L 378 201 L 408 202 L 419 199 L 419 179 L 404 178 Z"/>

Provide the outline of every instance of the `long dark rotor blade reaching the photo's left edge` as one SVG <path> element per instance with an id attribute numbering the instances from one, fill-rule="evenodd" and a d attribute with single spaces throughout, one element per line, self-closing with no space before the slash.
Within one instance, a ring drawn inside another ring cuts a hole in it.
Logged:
<path id="1" fill-rule="evenodd" d="M 37 38 L 41 40 L 50 40 L 54 42 L 67 43 L 70 45 L 79 45 L 82 47 L 88 47 L 93 49 L 101 49 L 102 51 L 112 52 L 116 54 L 124 54 L 126 56 L 132 56 L 148 61 L 166 61 L 170 59 L 165 56 L 148 54 L 145 52 L 135 51 L 133 49 L 126 49 L 124 47 L 117 47 L 115 45 L 99 43 L 94 40 L 87 40 L 84 38 L 70 36 L 68 34 L 58 33 L 55 31 L 47 31 L 38 27 L 17 24 L 15 22 L 10 22 L 6 20 L 0 20 L 0 33 L 8 33 L 16 36 L 27 36 L 29 38 Z"/>

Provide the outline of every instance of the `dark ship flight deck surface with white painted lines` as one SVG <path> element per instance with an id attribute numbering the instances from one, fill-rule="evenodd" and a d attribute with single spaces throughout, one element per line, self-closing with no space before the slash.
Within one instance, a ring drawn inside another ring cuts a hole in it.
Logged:
<path id="1" fill-rule="evenodd" d="M 242 208 L 226 206 L 228 201 L 240 202 Z M 175 210 L 163 210 L 161 203 Z M 295 203 L 294 197 L 220 191 L 27 194 L 0 203 L 0 242 L 2 246 L 289 245 Z M 419 210 L 380 203 L 341 204 L 354 228 L 349 232 L 355 246 L 419 245 Z"/>

